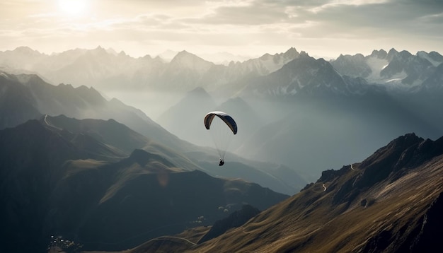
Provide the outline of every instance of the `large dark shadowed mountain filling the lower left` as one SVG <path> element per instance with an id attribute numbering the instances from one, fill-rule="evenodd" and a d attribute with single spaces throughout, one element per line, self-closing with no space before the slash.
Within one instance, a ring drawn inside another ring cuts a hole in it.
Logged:
<path id="1" fill-rule="evenodd" d="M 127 249 L 288 197 L 182 167 L 153 146 L 127 155 L 143 138 L 113 120 L 62 116 L 0 130 L 0 251 L 44 252 L 50 235 Z"/>

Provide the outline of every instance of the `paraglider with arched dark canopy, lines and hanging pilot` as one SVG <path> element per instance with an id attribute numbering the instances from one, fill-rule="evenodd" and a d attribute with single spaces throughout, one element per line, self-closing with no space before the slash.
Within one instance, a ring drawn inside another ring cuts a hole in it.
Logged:
<path id="1" fill-rule="evenodd" d="M 219 166 L 223 166 L 224 155 L 226 155 L 232 136 L 237 134 L 237 123 L 226 112 L 215 111 L 206 114 L 205 127 L 210 131 L 212 140 L 219 153 Z"/>

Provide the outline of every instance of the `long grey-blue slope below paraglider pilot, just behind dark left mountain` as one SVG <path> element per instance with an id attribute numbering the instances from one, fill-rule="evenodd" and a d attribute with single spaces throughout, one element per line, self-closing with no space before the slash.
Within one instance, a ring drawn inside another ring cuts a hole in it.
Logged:
<path id="1" fill-rule="evenodd" d="M 306 184 L 296 171 L 287 166 L 254 162 L 235 154 L 229 154 L 229 161 L 221 170 L 217 163 L 216 151 L 211 152 L 208 148 L 197 146 L 181 151 L 180 148 L 164 146 L 113 119 L 79 120 L 60 115 L 45 116 L 40 121 L 55 129 L 64 129 L 64 136 L 79 148 L 88 150 L 92 146 L 100 146 L 112 150 L 114 155 L 110 155 L 111 158 L 122 158 L 130 155 L 134 149 L 142 148 L 167 158 L 184 170 L 202 170 L 214 177 L 242 178 L 284 194 L 294 194 Z M 103 157 L 107 153 L 97 150 L 91 152 L 102 154 Z"/>

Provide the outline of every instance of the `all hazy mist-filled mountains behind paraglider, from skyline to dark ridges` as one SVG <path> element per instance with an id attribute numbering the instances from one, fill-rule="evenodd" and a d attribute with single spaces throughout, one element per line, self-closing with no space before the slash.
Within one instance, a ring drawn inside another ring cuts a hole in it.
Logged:
<path id="1" fill-rule="evenodd" d="M 164 61 L 101 47 L 52 56 L 19 48 L 0 59 L 52 83 L 93 86 L 200 146 L 214 146 L 202 118 L 222 110 L 238 122 L 227 160 L 231 152 L 281 163 L 307 181 L 362 160 L 397 136 L 442 134 L 443 57 L 437 52 L 381 49 L 326 61 L 291 48 L 220 65 L 185 51 Z"/>

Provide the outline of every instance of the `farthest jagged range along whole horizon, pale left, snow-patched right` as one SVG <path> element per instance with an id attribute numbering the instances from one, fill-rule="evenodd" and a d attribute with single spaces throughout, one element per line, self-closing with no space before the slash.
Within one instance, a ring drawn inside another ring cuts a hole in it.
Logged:
<path id="1" fill-rule="evenodd" d="M 309 57 L 306 52 L 298 52 L 290 48 L 281 54 L 264 54 L 256 59 L 246 61 L 231 61 L 227 66 L 214 64 L 190 52 L 178 52 L 171 61 L 160 57 L 133 58 L 120 52 L 106 50 L 103 47 L 96 49 L 73 49 L 59 54 L 42 54 L 29 47 L 18 47 L 14 50 L 0 52 L 0 68 L 12 73 L 39 73 L 50 83 L 70 83 L 77 86 L 93 86 L 98 90 L 146 88 L 189 91 L 197 87 L 212 91 L 226 90 L 226 86 L 242 82 L 245 78 L 267 76 L 272 72 L 282 69 L 294 59 Z M 340 55 L 337 59 L 326 61 L 313 59 L 311 64 L 304 60 L 300 67 L 287 66 L 293 69 L 294 80 L 303 86 L 308 85 L 303 78 L 316 73 L 316 78 L 322 78 L 319 73 L 331 76 L 329 69 L 334 69 L 340 76 L 347 76 L 349 82 L 352 78 L 362 78 L 367 83 L 379 84 L 389 87 L 401 86 L 406 90 L 420 86 L 430 76 L 439 73 L 438 66 L 443 62 L 443 56 L 438 52 L 417 52 L 415 55 L 408 51 L 398 52 L 390 49 L 374 50 L 372 54 L 363 56 Z M 315 61 L 317 63 L 315 63 Z M 331 68 L 332 66 L 332 68 Z M 305 69 L 303 69 L 305 68 Z M 308 71 L 309 70 L 309 71 Z M 310 73 L 309 73 L 310 72 Z M 303 73 L 307 76 L 303 77 Z M 441 76 L 441 73 L 439 73 Z M 335 81 L 334 81 L 335 79 Z M 328 83 L 334 83 L 339 78 L 333 78 Z M 355 81 L 353 81 L 355 82 Z M 361 82 L 361 81 L 360 81 Z M 289 84 L 288 81 L 274 86 L 280 88 L 280 93 L 294 93 L 298 89 L 282 88 Z M 316 83 L 317 86 L 320 83 Z M 254 86 L 254 84 L 252 85 Z M 295 86 L 294 86 L 295 87 Z M 333 87 L 333 86 L 332 86 Z M 230 86 L 229 93 L 238 93 L 242 87 Z M 301 88 L 301 87 L 299 87 Z M 337 92 L 343 92 L 340 87 L 335 87 Z M 277 90 L 275 90 L 276 92 Z"/>

